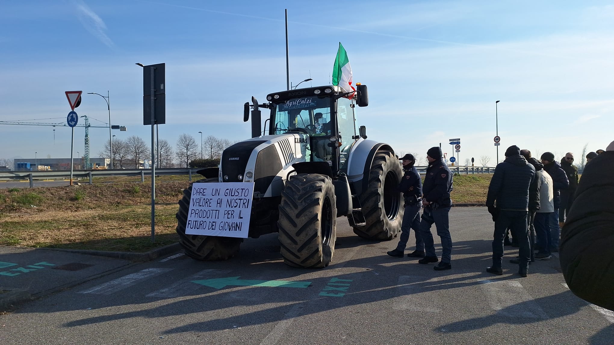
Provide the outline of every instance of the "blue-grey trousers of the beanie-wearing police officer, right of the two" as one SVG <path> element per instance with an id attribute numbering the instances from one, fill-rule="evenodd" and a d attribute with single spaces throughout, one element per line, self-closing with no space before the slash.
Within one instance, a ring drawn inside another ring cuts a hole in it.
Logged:
<path id="1" fill-rule="evenodd" d="M 426 207 L 424 212 L 422 212 L 422 221 L 420 222 L 420 232 L 424 241 L 426 256 L 437 256 L 435 255 L 433 234 L 430 232 L 430 227 L 435 223 L 437 235 L 441 238 L 441 262 L 445 263 L 450 263 L 452 259 L 452 237 L 450 236 L 448 220 L 449 212 L 449 207 L 438 208 L 437 210 Z"/>

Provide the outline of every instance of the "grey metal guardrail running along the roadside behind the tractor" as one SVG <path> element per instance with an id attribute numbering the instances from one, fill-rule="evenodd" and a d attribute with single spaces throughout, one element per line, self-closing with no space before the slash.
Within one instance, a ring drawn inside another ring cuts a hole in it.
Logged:
<path id="1" fill-rule="evenodd" d="M 192 181 L 192 174 L 203 168 L 165 168 L 156 169 L 155 175 L 188 175 L 189 181 Z M 424 175 L 426 166 L 416 166 L 418 173 Z M 475 173 L 492 173 L 493 167 L 449 167 L 451 172 L 461 174 Z M 17 172 L 0 172 L 0 180 L 29 180 L 30 188 L 34 187 L 34 180 L 45 178 L 70 178 L 71 173 L 68 170 L 41 170 L 41 171 L 17 171 Z M 74 170 L 72 178 L 88 178 L 91 184 L 91 179 L 94 177 L 108 176 L 141 176 L 141 181 L 145 181 L 145 176 L 151 176 L 151 169 L 103 169 L 103 170 Z"/>

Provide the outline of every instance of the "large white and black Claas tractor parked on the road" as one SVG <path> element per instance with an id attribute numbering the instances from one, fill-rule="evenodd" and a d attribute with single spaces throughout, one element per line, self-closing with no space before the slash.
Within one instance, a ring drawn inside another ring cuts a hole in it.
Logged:
<path id="1" fill-rule="evenodd" d="M 359 237 L 396 237 L 404 210 L 397 190 L 402 167 L 390 145 L 367 139 L 365 126 L 357 127 L 356 106 L 368 105 L 367 86 L 357 83 L 351 93 L 335 85 L 290 89 L 266 100 L 244 104 L 252 138 L 226 148 L 219 167 L 199 170 L 205 178 L 196 182 L 254 183 L 248 236 L 277 232 L 284 262 L 293 267 L 331 262 L 339 217 L 347 217 Z M 270 112 L 264 131 L 261 108 Z M 235 256 L 243 238 L 185 233 L 191 195 L 192 185 L 177 212 L 185 254 Z"/>

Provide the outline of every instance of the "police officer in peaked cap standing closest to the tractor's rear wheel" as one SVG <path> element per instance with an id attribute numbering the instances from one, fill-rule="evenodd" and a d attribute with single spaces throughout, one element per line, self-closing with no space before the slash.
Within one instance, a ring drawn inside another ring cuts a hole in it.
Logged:
<path id="1" fill-rule="evenodd" d="M 401 226 L 401 237 L 397 248 L 387 252 L 392 257 L 403 257 L 407 240 L 410 238 L 410 229 L 414 229 L 416 235 L 416 250 L 407 254 L 408 257 L 424 257 L 424 241 L 420 235 L 420 209 L 422 208 L 422 179 L 418 170 L 414 167 L 416 158 L 408 153 L 399 158 L 403 161 L 403 176 L 398 184 L 398 191 L 403 192 L 405 199 L 405 213 L 403 213 L 403 224 Z"/>

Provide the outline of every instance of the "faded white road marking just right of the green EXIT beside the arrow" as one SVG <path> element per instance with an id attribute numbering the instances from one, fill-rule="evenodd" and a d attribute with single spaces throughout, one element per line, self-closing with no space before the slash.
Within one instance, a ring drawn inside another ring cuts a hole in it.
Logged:
<path id="1" fill-rule="evenodd" d="M 424 295 L 420 295 L 425 290 L 419 287 L 416 283 L 424 282 L 429 278 L 422 276 L 399 276 L 397 287 L 395 290 L 399 292 L 399 297 L 394 298 L 395 303 L 392 306 L 395 310 L 411 310 L 411 311 L 423 311 L 426 313 L 441 313 L 440 308 L 434 308 L 429 299 L 424 298 Z"/>

